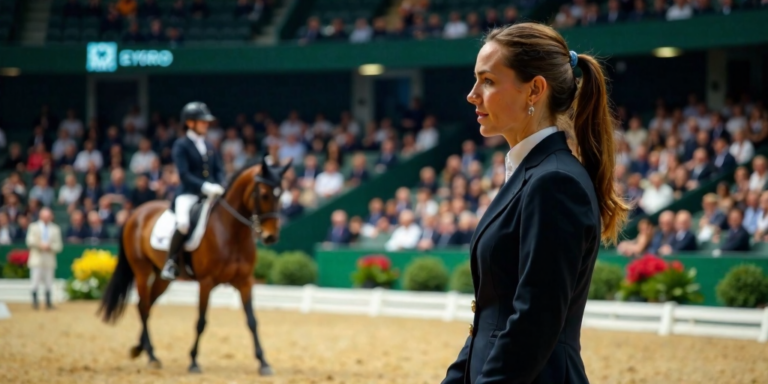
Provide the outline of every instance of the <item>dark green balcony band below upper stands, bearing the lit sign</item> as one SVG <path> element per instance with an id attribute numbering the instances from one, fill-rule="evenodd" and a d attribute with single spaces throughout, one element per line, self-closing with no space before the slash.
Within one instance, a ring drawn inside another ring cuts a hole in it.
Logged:
<path id="1" fill-rule="evenodd" d="M 768 11 L 735 12 L 697 16 L 676 22 L 647 21 L 620 25 L 574 28 L 563 31 L 571 49 L 600 56 L 649 55 L 660 46 L 684 50 L 750 46 L 768 43 L 765 20 Z M 168 66 L 118 66 L 115 73 L 256 73 L 356 69 L 379 63 L 391 68 L 452 67 L 473 65 L 480 41 L 428 40 L 371 44 L 318 43 L 298 46 L 285 43 L 271 47 L 246 44 L 188 45 L 170 50 Z M 118 46 L 148 50 L 150 46 Z M 168 49 L 167 46 L 154 49 Z M 85 73 L 85 45 L 0 47 L 0 67 L 20 68 L 25 73 Z"/>

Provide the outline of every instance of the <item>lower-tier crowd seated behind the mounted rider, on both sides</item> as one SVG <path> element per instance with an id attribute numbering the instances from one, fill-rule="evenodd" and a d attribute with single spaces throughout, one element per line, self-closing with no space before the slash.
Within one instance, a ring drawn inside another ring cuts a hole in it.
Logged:
<path id="1" fill-rule="evenodd" d="M 361 126 L 349 112 L 333 122 L 323 114 L 305 121 L 297 111 L 283 121 L 265 112 L 252 118 L 240 114 L 226 127 L 214 122 L 208 138 L 220 150 L 227 178 L 263 155 L 293 159 L 280 197 L 281 223 L 286 223 L 437 145 L 436 119 L 418 100 L 403 116 L 397 126 L 389 118 Z M 42 207 L 54 208 L 59 220 L 69 218 L 68 242 L 115 238 L 131 209 L 175 196 L 179 177 L 171 148 L 184 129 L 174 117 L 153 113 L 146 119 L 135 107 L 121 122 L 93 118 L 86 123 L 74 110 L 59 120 L 43 106 L 31 126 L 26 142 L 6 143 L 0 129 L 0 147 L 7 153 L 0 165 L 0 244 L 23 241 Z"/>

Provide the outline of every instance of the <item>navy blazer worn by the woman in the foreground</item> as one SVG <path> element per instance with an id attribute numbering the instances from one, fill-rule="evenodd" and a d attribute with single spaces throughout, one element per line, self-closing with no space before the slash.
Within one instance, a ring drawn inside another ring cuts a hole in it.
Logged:
<path id="1" fill-rule="evenodd" d="M 565 134 L 523 159 L 475 230 L 470 336 L 443 384 L 588 383 L 581 321 L 600 208 Z"/>

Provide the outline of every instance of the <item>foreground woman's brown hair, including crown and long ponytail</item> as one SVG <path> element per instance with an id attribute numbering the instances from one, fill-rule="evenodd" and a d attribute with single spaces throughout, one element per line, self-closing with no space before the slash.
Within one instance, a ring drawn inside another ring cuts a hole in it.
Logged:
<path id="1" fill-rule="evenodd" d="M 576 138 L 576 155 L 595 185 L 602 219 L 602 240 L 616 243 L 627 219 L 628 204 L 613 188 L 615 120 L 608 107 L 606 78 L 592 56 L 578 55 L 581 81 L 571 67 L 568 45 L 557 31 L 536 23 L 492 30 L 485 42 L 506 48 L 505 64 L 523 82 L 542 76 L 550 88 L 548 113 Z"/>

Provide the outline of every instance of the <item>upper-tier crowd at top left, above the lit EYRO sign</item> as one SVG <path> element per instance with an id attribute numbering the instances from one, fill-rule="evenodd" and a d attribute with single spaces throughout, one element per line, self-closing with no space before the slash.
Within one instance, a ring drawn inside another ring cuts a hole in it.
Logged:
<path id="1" fill-rule="evenodd" d="M 66 0 L 60 12 L 65 26 L 77 25 L 82 20 L 84 26 L 97 26 L 99 35 L 121 38 L 125 43 L 175 46 L 185 40 L 185 22 L 209 19 L 212 6 L 220 8 L 219 3 L 209 6 L 206 0 L 175 0 L 170 4 L 158 0 Z M 221 18 L 225 28 L 232 26 L 232 21 L 259 21 L 272 9 L 274 0 L 238 0 L 226 6 L 223 13 L 213 13 Z M 232 32 L 233 36 L 236 34 Z"/>

